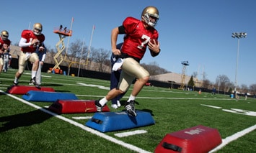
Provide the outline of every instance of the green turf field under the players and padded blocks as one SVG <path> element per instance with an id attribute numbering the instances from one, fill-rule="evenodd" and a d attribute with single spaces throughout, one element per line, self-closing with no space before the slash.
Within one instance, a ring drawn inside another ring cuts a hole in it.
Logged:
<path id="1" fill-rule="evenodd" d="M 256 98 L 245 101 L 244 97 L 236 100 L 229 95 L 145 86 L 136 98 L 136 109 L 150 112 L 155 124 L 101 133 L 84 126 L 89 120 L 86 117 L 94 113 L 58 116 L 47 111 L 52 103 L 25 101 L 22 95 L 5 93 L 15 72 L 9 69 L 0 75 L 0 152 L 154 152 L 166 134 L 198 125 L 218 129 L 223 145 L 213 152 L 255 152 Z M 25 71 L 19 85 L 29 81 L 30 71 Z M 110 81 L 43 73 L 42 86 L 96 100 L 105 96 Z M 124 110 L 123 106 L 113 109 L 110 105 L 107 103 L 111 111 Z M 146 133 L 115 135 L 136 130 Z"/>

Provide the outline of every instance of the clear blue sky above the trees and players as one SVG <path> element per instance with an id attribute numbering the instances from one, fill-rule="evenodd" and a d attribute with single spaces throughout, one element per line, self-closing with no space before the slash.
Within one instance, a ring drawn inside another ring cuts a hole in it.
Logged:
<path id="1" fill-rule="evenodd" d="M 150 5 L 159 9 L 156 29 L 162 52 L 158 57 L 146 52 L 141 62 L 156 62 L 161 68 L 182 73 L 181 62 L 188 61 L 187 75 L 198 72 L 198 78 L 202 79 L 204 72 L 211 82 L 215 82 L 218 75 L 226 75 L 234 83 L 237 39 L 231 34 L 247 32 L 247 38 L 240 39 L 237 83 L 248 86 L 256 83 L 255 0 L 9 0 L 1 1 L 0 29 L 9 31 L 9 39 L 14 44 L 19 42 L 23 29 L 40 22 L 45 45 L 55 48 L 59 38 L 53 28 L 60 24 L 70 28 L 74 17 L 70 43 L 85 40 L 88 46 L 95 25 L 92 47 L 110 50 L 111 30 L 121 25 L 125 17 L 141 19 L 141 11 Z M 122 42 L 122 38 L 119 37 L 118 42 Z"/>

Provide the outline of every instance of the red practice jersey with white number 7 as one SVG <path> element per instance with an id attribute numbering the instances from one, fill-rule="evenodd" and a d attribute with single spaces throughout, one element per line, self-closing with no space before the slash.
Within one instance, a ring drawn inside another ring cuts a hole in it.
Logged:
<path id="1" fill-rule="evenodd" d="M 123 22 L 125 37 L 122 52 L 141 60 L 146 52 L 150 39 L 158 39 L 158 32 L 154 27 L 145 29 L 143 22 L 133 17 L 127 17 Z"/>

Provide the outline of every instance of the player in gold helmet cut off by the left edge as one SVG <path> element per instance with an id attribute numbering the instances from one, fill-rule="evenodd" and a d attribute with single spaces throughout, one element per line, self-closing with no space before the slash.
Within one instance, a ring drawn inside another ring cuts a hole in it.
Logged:
<path id="1" fill-rule="evenodd" d="M 0 73 L 4 67 L 4 53 L 9 51 L 9 46 L 11 45 L 11 41 L 8 39 L 9 32 L 6 30 L 1 31 L 0 36 Z"/>

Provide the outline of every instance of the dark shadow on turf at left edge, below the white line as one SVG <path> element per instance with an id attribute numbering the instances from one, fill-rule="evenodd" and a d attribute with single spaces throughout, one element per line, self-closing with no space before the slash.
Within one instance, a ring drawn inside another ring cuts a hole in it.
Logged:
<path id="1" fill-rule="evenodd" d="M 43 121 L 52 117 L 48 113 L 44 113 L 37 109 L 27 113 L 19 113 L 11 116 L 0 117 L 0 132 L 12 130 L 22 126 L 32 126 L 33 124 L 40 124 Z"/>

